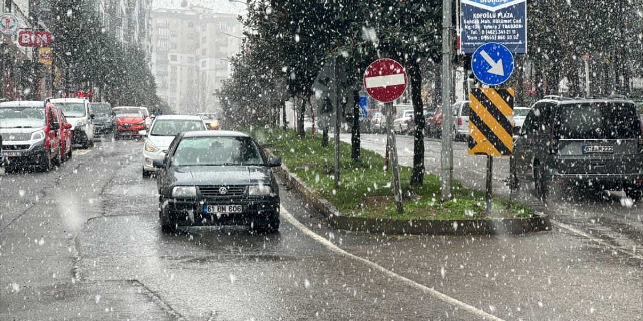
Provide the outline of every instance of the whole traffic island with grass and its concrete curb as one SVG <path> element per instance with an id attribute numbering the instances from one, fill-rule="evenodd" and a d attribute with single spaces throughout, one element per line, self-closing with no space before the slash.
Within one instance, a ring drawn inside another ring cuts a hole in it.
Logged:
<path id="1" fill-rule="evenodd" d="M 484 192 L 453 182 L 453 199 L 439 202 L 440 180 L 426 174 L 421 187 L 410 186 L 412 169 L 401 166 L 404 214 L 397 214 L 392 198 L 390 172 L 385 160 L 374 152 L 361 150 L 361 161 L 350 160 L 349 144 L 340 144 L 340 187 L 332 178 L 332 144 L 321 147 L 321 139 L 300 139 L 293 132 L 253 131 L 254 137 L 269 146 L 269 153 L 281 157 L 276 171 L 285 184 L 301 195 L 336 229 L 376 234 L 523 234 L 550 230 L 545 214 L 536 214 L 528 205 L 494 198 L 494 213 L 484 211 Z"/>

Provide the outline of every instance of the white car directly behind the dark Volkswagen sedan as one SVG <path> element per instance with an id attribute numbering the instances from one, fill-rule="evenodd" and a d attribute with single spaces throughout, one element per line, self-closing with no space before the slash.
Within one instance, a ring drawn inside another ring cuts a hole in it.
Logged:
<path id="1" fill-rule="evenodd" d="M 165 157 L 165 153 L 167 153 L 167 149 L 176 134 L 198 130 L 208 130 L 203 118 L 199 116 L 156 116 L 149 132 L 142 130 L 138 133 L 141 137 L 145 137 L 145 143 L 143 143 L 143 177 L 149 177 L 154 171 L 158 171 L 158 168 L 152 165 L 152 160 Z"/>

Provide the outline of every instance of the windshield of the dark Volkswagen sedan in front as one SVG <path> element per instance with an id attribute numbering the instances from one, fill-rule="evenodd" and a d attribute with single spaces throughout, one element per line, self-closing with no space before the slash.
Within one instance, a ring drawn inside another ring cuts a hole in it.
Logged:
<path id="1" fill-rule="evenodd" d="M 172 164 L 264 165 L 264 159 L 255 143 L 248 137 L 190 137 L 179 143 Z"/>

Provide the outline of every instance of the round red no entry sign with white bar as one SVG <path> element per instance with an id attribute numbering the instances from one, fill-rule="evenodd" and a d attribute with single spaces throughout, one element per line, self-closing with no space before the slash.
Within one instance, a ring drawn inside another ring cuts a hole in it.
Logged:
<path id="1" fill-rule="evenodd" d="M 364 72 L 364 88 L 369 96 L 382 103 L 400 98 L 406 90 L 406 71 L 395 60 L 383 58 L 374 61 Z"/>

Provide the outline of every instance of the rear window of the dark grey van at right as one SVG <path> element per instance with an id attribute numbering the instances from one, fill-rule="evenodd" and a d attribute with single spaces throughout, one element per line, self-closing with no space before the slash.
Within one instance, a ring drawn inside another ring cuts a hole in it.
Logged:
<path id="1" fill-rule="evenodd" d="M 637 110 L 631 103 L 584 103 L 563 106 L 556 119 L 559 139 L 636 139 Z"/>

